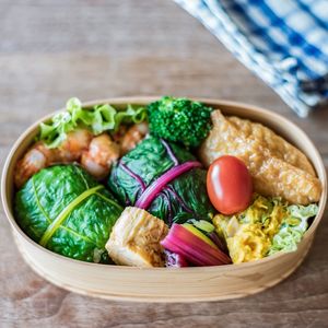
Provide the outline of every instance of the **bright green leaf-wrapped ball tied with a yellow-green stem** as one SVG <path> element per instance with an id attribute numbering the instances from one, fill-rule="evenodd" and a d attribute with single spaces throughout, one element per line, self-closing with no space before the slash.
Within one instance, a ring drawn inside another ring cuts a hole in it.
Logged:
<path id="1" fill-rule="evenodd" d="M 122 208 L 83 168 L 56 165 L 16 192 L 15 216 L 36 243 L 60 255 L 108 262 L 105 244 Z"/>

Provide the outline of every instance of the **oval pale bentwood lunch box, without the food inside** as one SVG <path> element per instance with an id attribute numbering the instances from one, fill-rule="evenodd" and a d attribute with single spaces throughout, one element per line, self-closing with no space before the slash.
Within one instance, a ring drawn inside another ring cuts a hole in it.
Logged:
<path id="1" fill-rule="evenodd" d="M 157 97 L 156 97 L 157 98 Z M 85 103 L 91 106 L 110 103 L 145 105 L 154 97 L 124 97 Z M 13 145 L 2 175 L 2 202 L 11 223 L 14 239 L 26 262 L 38 274 L 67 290 L 109 300 L 142 302 L 196 302 L 241 297 L 272 286 L 291 274 L 306 256 L 323 216 L 326 198 L 326 172 L 320 155 L 306 134 L 285 118 L 249 105 L 216 99 L 199 99 L 221 108 L 225 115 L 236 115 L 259 121 L 295 144 L 311 159 L 323 183 L 319 212 L 294 253 L 277 254 L 261 260 L 221 267 L 183 269 L 140 269 L 87 263 L 62 257 L 43 248 L 20 229 L 12 211 L 13 169 L 37 133 L 40 121 L 28 128 Z"/>

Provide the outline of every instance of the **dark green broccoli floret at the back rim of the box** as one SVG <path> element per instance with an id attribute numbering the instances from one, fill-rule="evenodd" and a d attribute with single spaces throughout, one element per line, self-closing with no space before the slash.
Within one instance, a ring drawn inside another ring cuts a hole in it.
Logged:
<path id="1" fill-rule="evenodd" d="M 165 96 L 148 106 L 150 132 L 187 148 L 195 148 L 211 130 L 212 110 L 199 102 Z"/>

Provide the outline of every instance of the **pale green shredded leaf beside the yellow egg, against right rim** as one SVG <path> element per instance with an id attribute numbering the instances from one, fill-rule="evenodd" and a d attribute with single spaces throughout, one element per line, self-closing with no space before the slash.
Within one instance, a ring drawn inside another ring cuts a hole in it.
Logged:
<path id="1" fill-rule="evenodd" d="M 318 206 L 315 203 L 304 206 L 289 206 L 288 215 L 282 221 L 279 232 L 272 239 L 272 246 L 269 255 L 278 251 L 294 251 L 297 244 L 302 241 L 308 226 L 308 219 L 318 212 Z"/>

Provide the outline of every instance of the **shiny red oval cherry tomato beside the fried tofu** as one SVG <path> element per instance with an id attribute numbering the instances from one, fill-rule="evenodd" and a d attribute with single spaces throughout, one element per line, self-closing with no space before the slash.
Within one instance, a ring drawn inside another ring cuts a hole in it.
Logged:
<path id="1" fill-rule="evenodd" d="M 214 208 L 226 215 L 247 209 L 251 200 L 251 176 L 235 156 L 224 155 L 211 164 L 207 188 Z"/>

